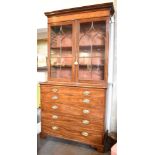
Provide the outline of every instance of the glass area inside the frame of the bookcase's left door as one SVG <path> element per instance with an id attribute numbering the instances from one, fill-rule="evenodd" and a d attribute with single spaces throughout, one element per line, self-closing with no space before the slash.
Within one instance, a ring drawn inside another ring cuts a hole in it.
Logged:
<path id="1" fill-rule="evenodd" d="M 72 76 L 72 25 L 51 27 L 51 78 Z"/>

